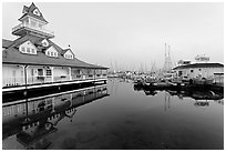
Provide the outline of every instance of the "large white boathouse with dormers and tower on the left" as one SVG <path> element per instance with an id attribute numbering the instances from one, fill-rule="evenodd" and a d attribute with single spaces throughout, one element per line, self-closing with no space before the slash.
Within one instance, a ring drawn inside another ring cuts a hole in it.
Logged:
<path id="1" fill-rule="evenodd" d="M 89 82 L 106 83 L 105 67 L 79 60 L 70 48 L 62 49 L 52 39 L 54 32 L 39 8 L 24 6 L 20 24 L 12 28 L 16 40 L 2 40 L 2 92 L 32 90 Z M 59 88 L 60 90 L 60 88 Z"/>

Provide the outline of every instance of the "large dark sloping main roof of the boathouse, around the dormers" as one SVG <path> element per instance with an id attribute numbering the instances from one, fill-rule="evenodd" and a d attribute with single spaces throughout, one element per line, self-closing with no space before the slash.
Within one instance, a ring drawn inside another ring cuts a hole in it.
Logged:
<path id="1" fill-rule="evenodd" d="M 13 43 L 6 50 L 2 51 L 2 63 L 10 63 L 10 64 L 39 64 L 39 65 L 54 65 L 54 67 L 74 67 L 74 68 L 89 68 L 89 69 L 107 69 L 100 65 L 90 64 L 86 62 L 83 62 L 76 58 L 72 60 L 66 60 L 62 55 L 59 55 L 58 58 L 47 57 L 43 52 L 38 51 L 37 54 L 24 54 L 21 53 L 17 45 L 21 44 L 24 41 L 30 40 L 34 45 L 35 42 L 39 42 L 39 37 L 34 36 L 24 36 L 13 41 Z M 48 40 L 50 43 L 50 47 L 54 47 L 59 54 L 63 52 L 63 49 L 61 49 L 59 45 L 56 45 L 54 42 Z"/>

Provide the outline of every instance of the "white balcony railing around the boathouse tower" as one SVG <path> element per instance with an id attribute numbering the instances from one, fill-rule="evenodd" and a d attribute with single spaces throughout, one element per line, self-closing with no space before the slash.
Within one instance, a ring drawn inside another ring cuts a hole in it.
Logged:
<path id="1" fill-rule="evenodd" d="M 20 23 L 19 26 L 12 28 L 12 32 L 14 32 L 14 31 L 17 31 L 17 30 L 19 30 L 19 29 L 21 29 L 21 28 L 29 28 L 29 29 L 31 29 L 31 30 L 35 30 L 35 31 L 42 32 L 42 33 L 48 34 L 48 36 L 50 36 L 50 37 L 53 37 L 53 36 L 54 36 L 54 32 L 52 32 L 52 31 L 45 30 L 45 29 L 43 29 L 43 28 L 32 27 L 32 26 L 29 24 L 29 23 Z"/>

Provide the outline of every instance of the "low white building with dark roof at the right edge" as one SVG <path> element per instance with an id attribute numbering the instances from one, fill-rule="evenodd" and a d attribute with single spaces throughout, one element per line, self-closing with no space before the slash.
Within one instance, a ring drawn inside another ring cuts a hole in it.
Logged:
<path id="1" fill-rule="evenodd" d="M 215 82 L 224 83 L 224 64 L 220 63 L 191 63 L 174 68 L 182 78 L 214 79 Z"/>

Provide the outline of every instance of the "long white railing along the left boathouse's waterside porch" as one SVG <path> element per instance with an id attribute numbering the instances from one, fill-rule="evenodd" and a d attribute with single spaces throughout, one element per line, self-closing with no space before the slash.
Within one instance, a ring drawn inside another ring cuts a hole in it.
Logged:
<path id="1" fill-rule="evenodd" d="M 89 75 L 60 75 L 60 77 L 29 77 L 27 78 L 27 84 L 43 84 L 43 83 L 54 83 L 54 82 L 64 82 L 64 81 L 82 81 L 82 80 L 96 80 L 96 79 L 106 79 L 106 74 L 89 74 Z M 24 78 L 3 78 L 2 87 L 18 87 L 24 85 Z"/>

